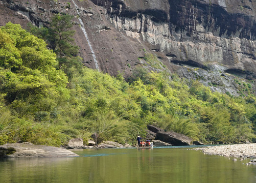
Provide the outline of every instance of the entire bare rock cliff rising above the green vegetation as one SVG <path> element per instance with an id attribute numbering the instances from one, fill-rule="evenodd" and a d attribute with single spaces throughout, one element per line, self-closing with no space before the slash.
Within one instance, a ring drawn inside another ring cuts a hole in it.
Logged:
<path id="1" fill-rule="evenodd" d="M 238 79 L 255 90 L 255 11 L 252 0 L 0 0 L 0 25 L 48 26 L 53 14 L 72 14 L 87 67 L 125 76 L 137 65 L 167 69 L 240 95 Z M 145 51 L 166 67 L 146 63 Z"/>

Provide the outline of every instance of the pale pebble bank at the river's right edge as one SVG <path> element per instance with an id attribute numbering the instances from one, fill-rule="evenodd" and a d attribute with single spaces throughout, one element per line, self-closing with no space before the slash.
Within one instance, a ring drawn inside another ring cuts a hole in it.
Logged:
<path id="1" fill-rule="evenodd" d="M 220 155 L 224 157 L 236 157 L 236 158 L 256 157 L 256 143 L 206 146 L 206 147 L 200 147 L 200 148 L 193 148 L 193 150 L 202 150 L 203 154 Z"/>

